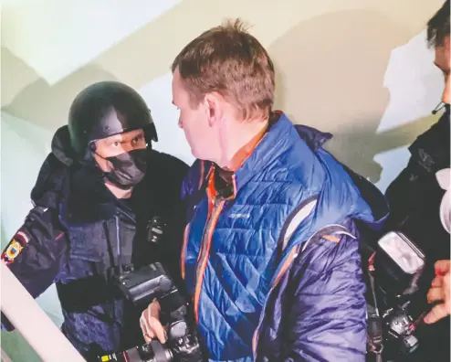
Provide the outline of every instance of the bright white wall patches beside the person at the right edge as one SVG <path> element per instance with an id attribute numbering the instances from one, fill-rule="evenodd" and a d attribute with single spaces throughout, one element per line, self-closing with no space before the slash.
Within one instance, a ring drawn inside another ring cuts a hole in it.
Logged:
<path id="1" fill-rule="evenodd" d="M 445 84 L 441 71 L 433 64 L 434 50 L 426 48 L 425 43 L 426 32 L 422 31 L 392 50 L 383 79 L 383 85 L 390 91 L 390 101 L 377 134 L 412 133 L 409 124 L 418 128 L 413 135 L 420 134 L 439 117 L 431 116 L 431 112 L 440 101 Z M 382 166 L 381 179 L 376 185 L 385 191 L 409 157 L 405 145 L 376 154 L 374 160 Z"/>

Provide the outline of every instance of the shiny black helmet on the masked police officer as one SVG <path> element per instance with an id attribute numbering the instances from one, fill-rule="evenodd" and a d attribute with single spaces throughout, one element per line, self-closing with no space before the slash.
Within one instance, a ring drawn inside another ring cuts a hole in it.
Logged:
<path id="1" fill-rule="evenodd" d="M 117 81 L 90 85 L 70 106 L 70 144 L 80 160 L 89 160 L 92 142 L 140 128 L 147 142 L 158 141 L 151 111 L 141 95 Z"/>

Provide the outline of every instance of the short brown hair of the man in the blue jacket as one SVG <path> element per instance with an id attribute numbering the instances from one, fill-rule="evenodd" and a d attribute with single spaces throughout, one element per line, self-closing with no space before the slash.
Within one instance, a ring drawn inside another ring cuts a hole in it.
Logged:
<path id="1" fill-rule="evenodd" d="M 240 19 L 213 27 L 189 43 L 174 59 L 194 104 L 216 91 L 243 118 L 267 115 L 274 101 L 274 65 L 267 50 Z"/>

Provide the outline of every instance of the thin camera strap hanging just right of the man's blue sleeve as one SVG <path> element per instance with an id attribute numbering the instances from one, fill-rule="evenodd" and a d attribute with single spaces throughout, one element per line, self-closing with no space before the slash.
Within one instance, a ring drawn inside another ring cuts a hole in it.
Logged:
<path id="1" fill-rule="evenodd" d="M 376 288 L 374 282 L 374 256 L 368 261 L 368 279 L 370 281 L 372 303 L 367 303 L 368 313 L 368 345 L 369 355 L 375 362 L 383 362 L 383 321 L 377 307 Z"/>

